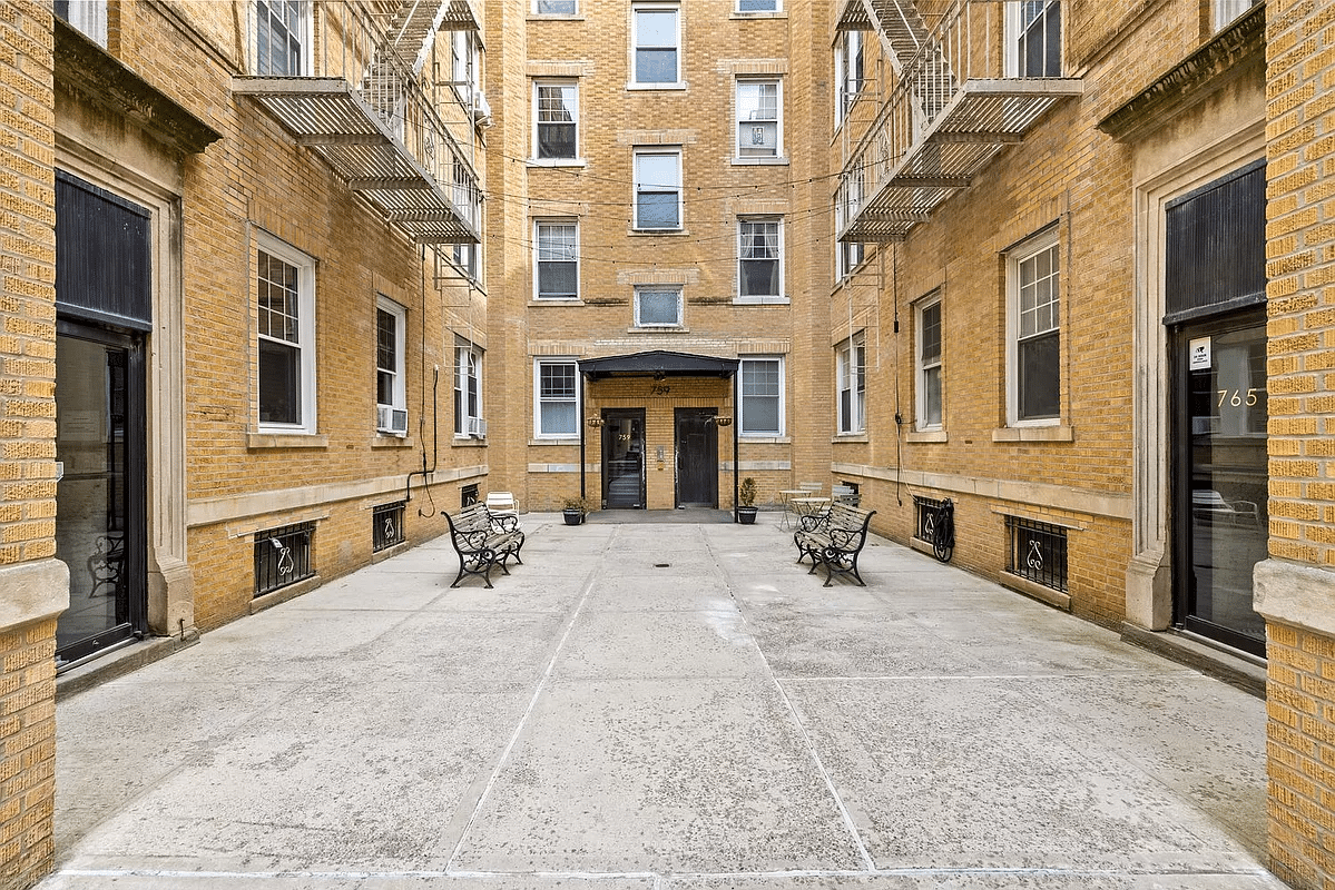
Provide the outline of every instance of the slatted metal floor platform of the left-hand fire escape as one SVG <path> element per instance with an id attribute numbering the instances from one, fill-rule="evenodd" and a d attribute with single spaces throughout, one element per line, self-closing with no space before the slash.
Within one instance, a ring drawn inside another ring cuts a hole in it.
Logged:
<path id="1" fill-rule="evenodd" d="M 475 244 L 477 228 L 342 77 L 234 77 L 298 143 L 419 244 Z M 441 147 L 445 148 L 443 145 Z M 471 172 L 471 171 L 470 171 Z"/>

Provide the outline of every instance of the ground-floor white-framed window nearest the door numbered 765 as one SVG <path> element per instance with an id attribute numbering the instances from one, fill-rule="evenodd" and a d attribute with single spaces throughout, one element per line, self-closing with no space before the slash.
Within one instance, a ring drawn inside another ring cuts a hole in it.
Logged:
<path id="1" fill-rule="evenodd" d="M 1061 416 L 1061 248 L 1056 227 L 1007 256 L 1008 422 Z"/>

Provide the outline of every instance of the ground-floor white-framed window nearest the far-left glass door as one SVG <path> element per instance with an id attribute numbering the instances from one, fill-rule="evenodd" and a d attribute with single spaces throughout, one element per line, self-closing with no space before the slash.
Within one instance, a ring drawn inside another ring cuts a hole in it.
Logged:
<path id="1" fill-rule="evenodd" d="M 255 254 L 259 428 L 315 432 L 315 260 L 262 234 Z"/>

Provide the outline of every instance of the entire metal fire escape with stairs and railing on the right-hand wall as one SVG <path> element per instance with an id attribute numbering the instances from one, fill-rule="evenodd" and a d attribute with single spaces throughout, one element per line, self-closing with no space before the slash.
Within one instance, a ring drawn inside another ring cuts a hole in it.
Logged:
<path id="1" fill-rule="evenodd" d="M 1003 0 L 918 3 L 846 0 L 841 13 L 840 28 L 877 33 L 890 64 L 888 89 L 865 88 L 845 116 L 841 240 L 902 239 L 1053 104 L 1081 92 L 1079 79 L 1017 76 L 1025 63 L 1008 57 Z"/>

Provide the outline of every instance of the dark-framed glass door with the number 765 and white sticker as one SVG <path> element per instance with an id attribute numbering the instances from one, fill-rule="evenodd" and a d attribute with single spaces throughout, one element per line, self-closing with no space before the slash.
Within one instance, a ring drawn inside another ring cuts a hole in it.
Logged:
<path id="1" fill-rule="evenodd" d="M 1179 626 L 1258 655 L 1252 567 L 1266 558 L 1266 324 L 1260 314 L 1184 326 L 1173 338 Z"/>

